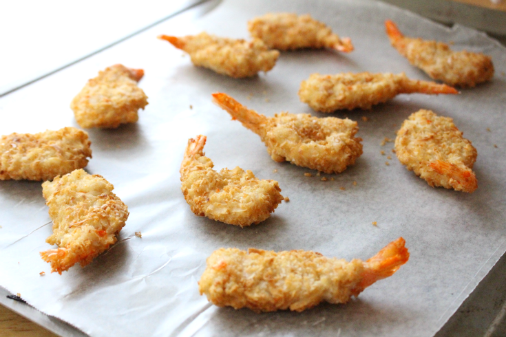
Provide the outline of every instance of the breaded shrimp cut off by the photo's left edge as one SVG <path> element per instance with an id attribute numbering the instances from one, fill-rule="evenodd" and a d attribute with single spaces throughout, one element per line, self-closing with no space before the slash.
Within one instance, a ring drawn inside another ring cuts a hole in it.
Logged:
<path id="1" fill-rule="evenodd" d="M 88 164 L 88 134 L 74 127 L 0 138 L 0 180 L 52 180 Z"/>

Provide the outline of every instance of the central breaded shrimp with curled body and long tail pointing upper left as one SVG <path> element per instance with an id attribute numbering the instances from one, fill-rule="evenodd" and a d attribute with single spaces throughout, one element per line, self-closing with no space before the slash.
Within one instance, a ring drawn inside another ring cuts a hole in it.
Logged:
<path id="1" fill-rule="evenodd" d="M 341 173 L 362 154 L 362 139 L 354 137 L 359 127 L 348 118 L 317 118 L 287 112 L 266 117 L 226 94 L 213 94 L 213 100 L 233 120 L 260 135 L 275 162 L 287 160 L 325 173 Z"/>

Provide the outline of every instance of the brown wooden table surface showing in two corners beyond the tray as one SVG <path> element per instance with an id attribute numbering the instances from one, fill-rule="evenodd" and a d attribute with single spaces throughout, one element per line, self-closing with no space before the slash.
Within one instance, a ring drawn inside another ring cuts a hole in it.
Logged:
<path id="1" fill-rule="evenodd" d="M 506 12 L 506 0 L 452 0 Z M 56 337 L 51 331 L 33 323 L 12 310 L 0 305 L 0 335 L 2 337 Z"/>

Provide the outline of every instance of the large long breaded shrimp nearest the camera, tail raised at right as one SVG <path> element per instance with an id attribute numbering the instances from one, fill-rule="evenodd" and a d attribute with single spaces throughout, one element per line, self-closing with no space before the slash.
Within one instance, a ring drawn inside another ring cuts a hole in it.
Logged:
<path id="1" fill-rule="evenodd" d="M 255 312 L 302 312 L 323 301 L 346 303 L 408 261 L 404 244 L 399 237 L 365 262 L 304 250 L 221 248 L 207 259 L 198 287 L 219 307 L 247 307 Z"/>

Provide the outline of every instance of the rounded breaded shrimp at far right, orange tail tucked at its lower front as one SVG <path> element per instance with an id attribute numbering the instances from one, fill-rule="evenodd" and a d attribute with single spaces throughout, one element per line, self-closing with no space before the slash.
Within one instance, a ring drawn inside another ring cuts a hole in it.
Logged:
<path id="1" fill-rule="evenodd" d="M 436 116 L 430 110 L 412 113 L 397 131 L 395 153 L 430 186 L 469 193 L 478 188 L 472 172 L 476 149 L 462 137 L 452 118 Z"/>

